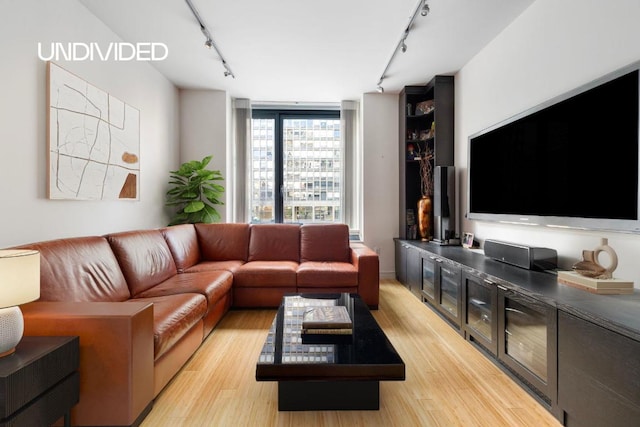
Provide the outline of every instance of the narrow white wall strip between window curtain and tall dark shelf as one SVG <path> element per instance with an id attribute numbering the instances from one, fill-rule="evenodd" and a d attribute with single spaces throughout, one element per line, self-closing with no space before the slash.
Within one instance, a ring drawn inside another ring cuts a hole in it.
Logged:
<path id="1" fill-rule="evenodd" d="M 362 101 L 364 244 L 380 253 L 380 276 L 395 277 L 398 237 L 398 95 L 366 93 Z"/>

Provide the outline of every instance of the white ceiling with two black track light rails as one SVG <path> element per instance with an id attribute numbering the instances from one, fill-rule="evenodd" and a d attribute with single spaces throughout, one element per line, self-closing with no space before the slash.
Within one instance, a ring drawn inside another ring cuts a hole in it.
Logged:
<path id="1" fill-rule="evenodd" d="M 382 86 L 386 93 L 453 74 L 534 0 L 428 0 Z M 192 0 L 235 78 L 185 0 L 81 0 L 126 42 L 169 48 L 152 62 L 180 88 L 253 101 L 337 102 L 375 92 L 419 0 Z"/>

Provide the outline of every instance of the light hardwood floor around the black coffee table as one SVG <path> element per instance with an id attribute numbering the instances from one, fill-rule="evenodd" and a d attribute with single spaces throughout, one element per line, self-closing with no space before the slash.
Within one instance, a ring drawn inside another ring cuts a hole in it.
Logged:
<path id="1" fill-rule="evenodd" d="M 398 282 L 381 281 L 373 313 L 406 364 L 406 381 L 380 383 L 379 411 L 278 412 L 276 383 L 255 380 L 275 310 L 232 310 L 142 426 L 560 426 Z"/>

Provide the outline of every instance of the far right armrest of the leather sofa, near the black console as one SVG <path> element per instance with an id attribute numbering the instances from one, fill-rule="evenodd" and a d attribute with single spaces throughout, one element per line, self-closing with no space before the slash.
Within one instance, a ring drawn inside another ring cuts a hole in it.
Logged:
<path id="1" fill-rule="evenodd" d="M 378 254 L 361 243 L 351 244 L 351 263 L 358 269 L 358 294 L 372 309 L 380 300 L 380 259 Z"/>

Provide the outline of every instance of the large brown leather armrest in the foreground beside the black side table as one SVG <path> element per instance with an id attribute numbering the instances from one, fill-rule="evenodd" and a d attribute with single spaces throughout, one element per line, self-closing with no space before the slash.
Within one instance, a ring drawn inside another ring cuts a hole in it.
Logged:
<path id="1" fill-rule="evenodd" d="M 33 302 L 24 335 L 80 337 L 80 402 L 73 425 L 132 425 L 153 401 L 153 304 Z"/>

